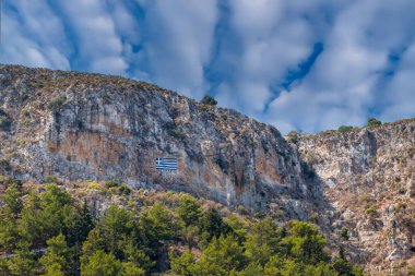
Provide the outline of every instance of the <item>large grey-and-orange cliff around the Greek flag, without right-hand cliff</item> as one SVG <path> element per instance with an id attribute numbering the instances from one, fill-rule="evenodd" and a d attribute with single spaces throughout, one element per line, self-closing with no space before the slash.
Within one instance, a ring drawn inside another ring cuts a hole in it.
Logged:
<path id="1" fill-rule="evenodd" d="M 311 192 L 300 163 L 270 125 L 121 77 L 21 67 L 1 67 L 0 75 L 11 121 L 1 155 L 17 178 L 116 179 L 306 213 L 298 200 Z M 178 172 L 158 172 L 157 157 L 177 157 Z"/>

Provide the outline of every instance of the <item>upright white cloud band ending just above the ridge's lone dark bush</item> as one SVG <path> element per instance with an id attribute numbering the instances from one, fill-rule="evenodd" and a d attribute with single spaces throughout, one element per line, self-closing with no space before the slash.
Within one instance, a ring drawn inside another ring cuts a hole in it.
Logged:
<path id="1" fill-rule="evenodd" d="M 150 29 L 144 41 L 151 80 L 187 96 L 208 89 L 204 67 L 211 58 L 217 22 L 216 0 L 145 2 Z"/>

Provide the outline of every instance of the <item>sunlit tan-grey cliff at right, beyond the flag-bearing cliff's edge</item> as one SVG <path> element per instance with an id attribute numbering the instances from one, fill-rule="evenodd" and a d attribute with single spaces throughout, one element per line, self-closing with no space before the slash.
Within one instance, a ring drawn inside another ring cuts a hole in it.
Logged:
<path id="1" fill-rule="evenodd" d="M 296 147 L 323 188 L 327 225 L 348 230 L 356 261 L 372 275 L 414 262 L 415 120 L 304 135 Z"/>

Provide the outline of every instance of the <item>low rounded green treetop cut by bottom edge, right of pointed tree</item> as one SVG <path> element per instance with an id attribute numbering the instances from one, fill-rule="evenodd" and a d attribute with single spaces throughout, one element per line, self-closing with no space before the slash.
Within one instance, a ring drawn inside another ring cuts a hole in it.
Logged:
<path id="1" fill-rule="evenodd" d="M 119 276 L 123 274 L 122 263 L 111 253 L 97 250 L 91 256 L 81 257 L 81 275 L 83 276 Z"/>

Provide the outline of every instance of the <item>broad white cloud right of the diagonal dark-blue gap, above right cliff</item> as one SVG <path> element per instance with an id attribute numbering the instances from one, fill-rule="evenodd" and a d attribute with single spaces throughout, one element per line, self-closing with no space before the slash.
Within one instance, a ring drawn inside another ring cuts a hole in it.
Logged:
<path id="1" fill-rule="evenodd" d="M 369 108 L 379 108 L 383 89 L 379 84 L 386 77 L 382 71 L 390 65 L 390 52 L 407 43 L 396 33 L 410 29 L 405 25 L 410 21 L 402 21 L 398 11 L 403 7 L 410 9 L 410 1 L 398 4 L 400 9 L 391 8 L 395 2 L 368 0 L 344 8 L 324 38 L 324 51 L 312 71 L 271 104 L 266 120 L 282 132 L 293 125 L 306 132 L 336 129 L 341 124 L 363 125 L 370 116 Z M 383 19 L 389 20 L 387 28 Z M 404 56 L 402 59 L 413 58 Z M 414 98 L 407 82 L 410 73 L 401 71 L 398 68 L 387 93 L 390 100 L 381 112 L 383 120 L 415 115 L 415 106 L 407 104 Z M 400 92 L 392 93 L 395 87 Z"/>

